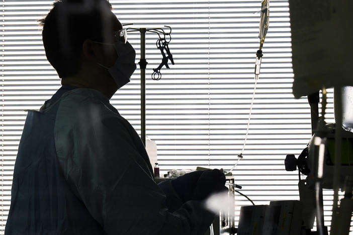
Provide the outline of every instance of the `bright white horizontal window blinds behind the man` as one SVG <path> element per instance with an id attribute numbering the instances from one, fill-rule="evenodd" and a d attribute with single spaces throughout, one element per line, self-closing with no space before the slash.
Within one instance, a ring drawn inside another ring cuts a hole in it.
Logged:
<path id="1" fill-rule="evenodd" d="M 146 135 L 158 149 L 161 174 L 196 166 L 229 170 L 246 133 L 258 50 L 260 0 L 110 1 L 122 24 L 172 28 L 169 48 L 175 65 L 161 69 L 158 36 L 146 34 Z M 47 62 L 37 20 L 51 1 L 3 0 L 1 5 L 1 223 L 10 208 L 13 168 L 26 112 L 39 109 L 60 87 Z M 140 59 L 140 35 L 129 33 Z M 242 193 L 255 204 L 299 199 L 298 173 L 286 172 L 287 154 L 298 156 L 311 138 L 310 107 L 292 95 L 291 34 L 286 0 L 271 0 L 270 29 L 264 43 L 244 158 L 233 170 Z M 332 121 L 332 93 L 327 119 Z M 140 71 L 111 103 L 140 133 Z M 333 121 L 332 121 L 333 122 Z M 153 163 L 152 163 L 153 164 Z M 324 192 L 325 223 L 330 223 L 332 192 Z M 248 205 L 236 195 L 236 215 Z M 237 218 L 238 219 L 238 218 Z"/>

